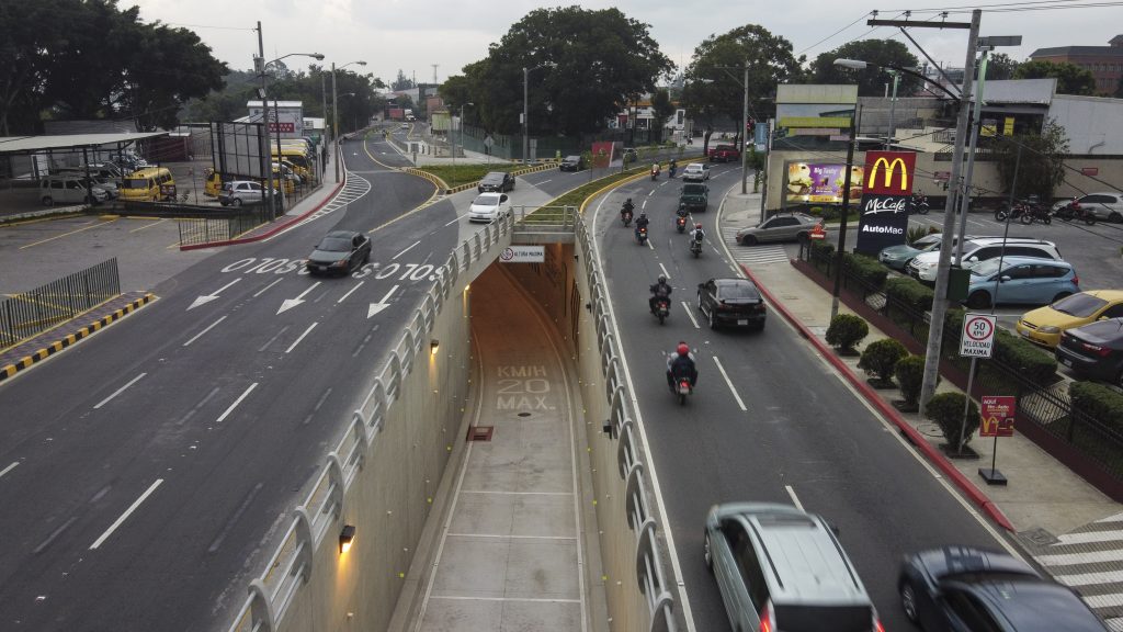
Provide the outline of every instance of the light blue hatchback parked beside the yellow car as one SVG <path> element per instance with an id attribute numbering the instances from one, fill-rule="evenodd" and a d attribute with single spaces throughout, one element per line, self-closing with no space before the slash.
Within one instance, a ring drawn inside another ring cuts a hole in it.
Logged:
<path id="1" fill-rule="evenodd" d="M 992 304 L 1047 305 L 1080 291 L 1080 279 L 1067 261 L 1035 256 L 989 259 L 971 268 L 967 307 Z"/>

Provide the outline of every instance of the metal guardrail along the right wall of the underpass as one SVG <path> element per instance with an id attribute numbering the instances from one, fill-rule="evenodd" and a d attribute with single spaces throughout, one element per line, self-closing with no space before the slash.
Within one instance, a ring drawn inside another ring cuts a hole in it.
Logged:
<path id="1" fill-rule="evenodd" d="M 674 614 L 675 599 L 663 574 L 663 562 L 666 560 L 659 547 L 658 524 L 648 502 L 651 489 L 645 476 L 647 466 L 632 417 L 630 390 L 623 379 L 620 342 L 606 309 L 609 299 L 604 278 L 596 264 L 588 228 L 584 222 L 577 222 L 575 228 L 585 259 L 593 317 L 596 322 L 596 346 L 601 354 L 601 371 L 604 373 L 604 394 L 610 403 L 609 425 L 612 437 L 620 441 L 617 448 L 618 473 L 626 481 L 624 511 L 628 513 L 628 526 L 636 539 L 636 575 L 638 588 L 648 607 L 648 630 L 675 632 L 678 629 Z"/>

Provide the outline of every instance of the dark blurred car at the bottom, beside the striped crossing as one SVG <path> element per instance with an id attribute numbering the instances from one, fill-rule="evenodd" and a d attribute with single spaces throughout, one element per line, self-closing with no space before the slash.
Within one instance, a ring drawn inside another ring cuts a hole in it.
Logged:
<path id="1" fill-rule="evenodd" d="M 1001 551 L 947 545 L 904 559 L 901 606 L 926 632 L 1104 632 L 1070 588 Z"/>

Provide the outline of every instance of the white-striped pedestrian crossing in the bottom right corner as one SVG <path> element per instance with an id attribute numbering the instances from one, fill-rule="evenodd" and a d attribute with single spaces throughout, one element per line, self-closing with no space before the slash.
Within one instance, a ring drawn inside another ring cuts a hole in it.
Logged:
<path id="1" fill-rule="evenodd" d="M 1032 547 L 1054 580 L 1080 594 L 1111 630 L 1123 632 L 1123 514 L 1086 524 Z"/>

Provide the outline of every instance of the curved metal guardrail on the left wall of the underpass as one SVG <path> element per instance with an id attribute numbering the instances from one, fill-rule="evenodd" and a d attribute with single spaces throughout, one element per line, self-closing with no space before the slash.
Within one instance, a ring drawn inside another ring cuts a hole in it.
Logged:
<path id="1" fill-rule="evenodd" d="M 359 407 L 353 413 L 343 436 L 325 458 L 311 490 L 292 511 L 284 538 L 265 565 L 265 571 L 250 581 L 249 596 L 230 625 L 230 632 L 274 632 L 284 620 L 301 586 L 311 576 L 314 552 L 332 544 L 326 538 L 332 522 L 343 513 L 346 493 L 363 462 L 372 453 L 390 407 L 400 395 L 402 380 L 413 360 L 428 350 L 429 334 L 445 300 L 460 272 L 484 256 L 512 232 L 514 217 L 508 215 L 489 224 L 457 246 L 437 269 L 437 280 L 416 308 L 398 344 L 390 351 L 382 369 Z"/>

